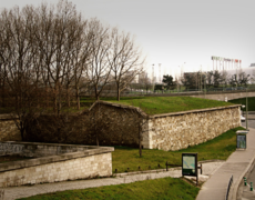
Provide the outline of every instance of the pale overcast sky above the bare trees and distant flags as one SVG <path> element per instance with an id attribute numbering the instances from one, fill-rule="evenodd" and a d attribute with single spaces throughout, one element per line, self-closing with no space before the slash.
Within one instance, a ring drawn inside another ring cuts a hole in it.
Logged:
<path id="1" fill-rule="evenodd" d="M 255 62 L 255 0 L 70 0 L 84 18 L 131 32 L 162 72 L 212 69 L 212 56 Z M 0 0 L 0 9 L 41 0 Z M 57 3 L 58 0 L 47 1 Z M 157 70 L 157 69 L 155 69 Z"/>

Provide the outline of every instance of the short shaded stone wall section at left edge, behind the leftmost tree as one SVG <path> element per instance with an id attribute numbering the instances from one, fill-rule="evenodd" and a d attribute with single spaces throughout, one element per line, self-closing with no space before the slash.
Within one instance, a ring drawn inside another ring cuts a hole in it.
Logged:
<path id="1" fill-rule="evenodd" d="M 21 141 L 20 131 L 8 114 L 0 114 L 0 141 Z"/>

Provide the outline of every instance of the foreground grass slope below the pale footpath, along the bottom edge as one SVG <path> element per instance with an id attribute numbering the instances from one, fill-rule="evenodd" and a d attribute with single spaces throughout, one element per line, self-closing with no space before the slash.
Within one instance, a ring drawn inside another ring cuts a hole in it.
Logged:
<path id="1" fill-rule="evenodd" d="M 154 200 L 154 199 L 195 199 L 200 189 L 182 179 L 163 178 L 139 181 L 128 184 L 106 186 L 84 190 L 70 190 L 24 198 L 28 200 L 62 200 L 62 199 L 105 199 L 105 200 Z"/>

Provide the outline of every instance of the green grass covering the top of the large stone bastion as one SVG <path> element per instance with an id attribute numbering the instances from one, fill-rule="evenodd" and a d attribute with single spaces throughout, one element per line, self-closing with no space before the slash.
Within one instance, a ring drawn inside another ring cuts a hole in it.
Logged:
<path id="1" fill-rule="evenodd" d="M 178 112 L 233 104 L 231 102 L 192 97 L 133 97 L 121 98 L 121 101 L 116 101 L 115 98 L 102 98 L 101 100 L 140 107 L 147 114 L 160 114 L 167 112 Z M 84 98 L 81 100 L 81 102 L 89 101 L 91 100 Z"/>

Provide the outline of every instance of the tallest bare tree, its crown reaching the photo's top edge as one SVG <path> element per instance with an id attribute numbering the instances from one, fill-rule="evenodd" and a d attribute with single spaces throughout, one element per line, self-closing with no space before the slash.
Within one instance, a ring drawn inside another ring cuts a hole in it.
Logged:
<path id="1" fill-rule="evenodd" d="M 71 2 L 63 0 L 57 7 L 42 3 L 38 9 L 37 21 L 34 36 L 42 80 L 44 87 L 54 94 L 54 110 L 60 114 L 63 106 L 70 107 L 70 96 L 73 96 L 71 83 L 79 82 L 85 68 L 86 22 Z"/>

